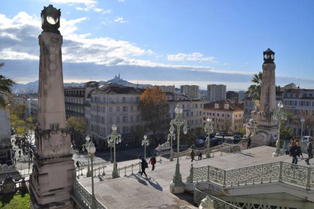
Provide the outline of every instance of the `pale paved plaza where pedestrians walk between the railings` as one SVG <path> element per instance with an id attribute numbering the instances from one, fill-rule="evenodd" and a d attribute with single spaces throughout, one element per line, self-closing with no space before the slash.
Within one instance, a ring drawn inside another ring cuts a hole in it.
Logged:
<path id="1" fill-rule="evenodd" d="M 203 160 L 193 161 L 194 167 L 212 165 L 220 169 L 235 169 L 244 166 L 258 165 L 277 161 L 291 162 L 292 158 L 288 155 L 272 157 L 275 148 L 262 146 L 238 153 L 214 153 L 213 158 L 203 158 Z M 307 155 L 304 154 L 304 157 Z M 158 157 L 158 160 L 160 158 Z M 119 163 L 118 168 L 124 165 L 138 162 L 139 160 L 124 161 Z M 166 158 L 156 164 L 155 171 L 151 171 L 151 165 L 146 170 L 148 178 L 141 177 L 138 173 L 139 168 L 128 169 L 124 177 L 124 172 L 120 173 L 120 178 L 107 179 L 100 176 L 94 177 L 95 196 L 109 208 L 196 208 L 192 205 L 193 195 L 184 193 L 174 195 L 170 193 L 169 184 L 175 170 L 176 161 L 170 162 Z M 314 163 L 314 161 L 312 161 Z M 304 160 L 299 161 L 299 165 L 306 165 Z M 180 160 L 180 171 L 182 180 L 186 181 L 189 175 L 191 159 L 182 157 Z M 109 171 L 112 165 L 106 168 Z M 112 170 L 111 170 L 112 171 Z M 144 175 L 143 175 L 144 176 Z M 91 179 L 81 178 L 78 181 L 91 192 Z"/>

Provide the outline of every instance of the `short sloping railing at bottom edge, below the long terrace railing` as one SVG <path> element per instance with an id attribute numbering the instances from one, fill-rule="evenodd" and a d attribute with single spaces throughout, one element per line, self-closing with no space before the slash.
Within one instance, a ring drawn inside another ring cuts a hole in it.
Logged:
<path id="1" fill-rule="evenodd" d="M 200 205 L 202 199 L 204 199 L 206 196 L 209 197 L 213 201 L 213 206 L 215 209 L 241 209 L 241 207 L 237 207 L 233 204 L 230 204 L 228 202 L 225 202 L 217 197 L 211 196 L 209 194 L 206 194 L 200 190 L 198 190 L 197 183 L 194 185 L 194 191 L 193 191 L 193 202 L 196 205 Z"/>

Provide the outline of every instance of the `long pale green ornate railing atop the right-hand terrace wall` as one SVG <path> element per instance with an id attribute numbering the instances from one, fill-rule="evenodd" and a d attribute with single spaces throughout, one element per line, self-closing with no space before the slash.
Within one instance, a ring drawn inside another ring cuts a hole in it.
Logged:
<path id="1" fill-rule="evenodd" d="M 211 165 L 191 168 L 187 183 L 199 181 L 210 181 L 224 187 L 283 182 L 314 190 L 314 168 L 287 162 L 272 162 L 230 170 Z"/>

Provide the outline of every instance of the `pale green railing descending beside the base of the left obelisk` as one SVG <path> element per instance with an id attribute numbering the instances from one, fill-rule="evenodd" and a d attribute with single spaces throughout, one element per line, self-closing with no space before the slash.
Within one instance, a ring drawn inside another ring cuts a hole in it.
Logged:
<path id="1" fill-rule="evenodd" d="M 73 195 L 76 197 L 74 201 L 80 201 L 80 204 L 91 208 L 92 195 L 75 178 L 73 178 Z M 94 205 L 97 209 L 107 209 L 97 198 L 94 199 Z"/>

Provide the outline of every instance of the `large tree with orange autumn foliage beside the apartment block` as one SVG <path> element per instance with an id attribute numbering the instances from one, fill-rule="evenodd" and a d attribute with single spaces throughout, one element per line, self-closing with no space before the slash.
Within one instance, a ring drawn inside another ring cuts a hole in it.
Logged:
<path id="1" fill-rule="evenodd" d="M 140 104 L 142 119 L 147 129 L 153 132 L 154 142 L 157 135 L 167 133 L 169 129 L 169 104 L 166 94 L 159 87 L 146 89 L 141 96 Z"/>

